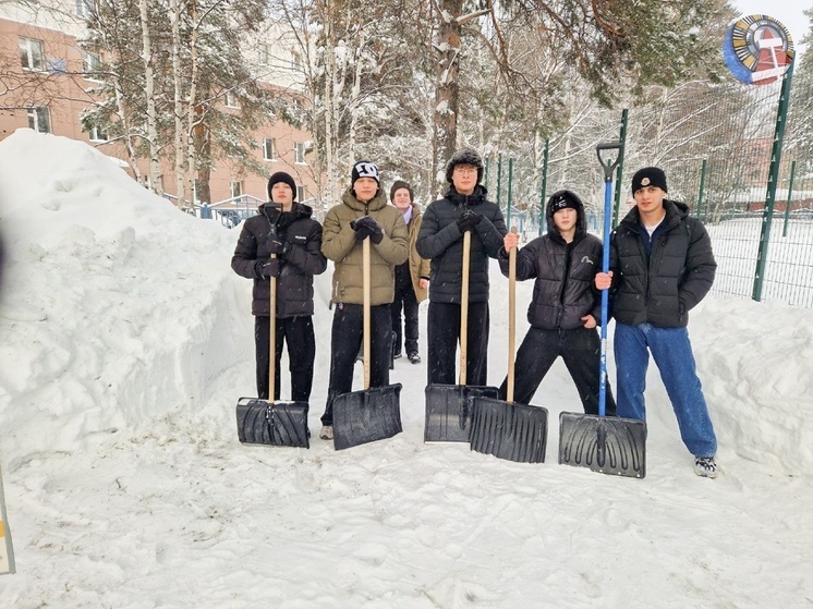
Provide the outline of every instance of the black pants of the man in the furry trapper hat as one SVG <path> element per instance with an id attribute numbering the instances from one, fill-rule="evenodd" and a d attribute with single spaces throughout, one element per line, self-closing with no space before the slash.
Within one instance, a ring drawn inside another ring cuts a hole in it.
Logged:
<path id="1" fill-rule="evenodd" d="M 456 368 L 460 340 L 460 305 L 429 303 L 429 385 L 458 385 Z M 466 385 L 485 385 L 488 367 L 488 303 L 470 303 L 465 354 Z"/>

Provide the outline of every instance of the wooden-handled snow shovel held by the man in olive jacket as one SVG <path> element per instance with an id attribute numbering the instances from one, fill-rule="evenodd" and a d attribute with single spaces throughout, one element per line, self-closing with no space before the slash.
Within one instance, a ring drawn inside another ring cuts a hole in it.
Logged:
<path id="1" fill-rule="evenodd" d="M 341 393 L 333 400 L 333 448 L 375 442 L 400 434 L 401 385 L 369 387 L 369 237 L 362 242 L 364 273 L 364 390 Z M 391 352 L 391 348 L 390 348 Z"/>

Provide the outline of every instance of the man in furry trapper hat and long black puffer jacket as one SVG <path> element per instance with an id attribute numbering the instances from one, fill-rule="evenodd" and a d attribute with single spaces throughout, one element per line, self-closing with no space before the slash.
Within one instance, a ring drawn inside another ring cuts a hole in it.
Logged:
<path id="1" fill-rule="evenodd" d="M 486 199 L 483 159 L 476 150 L 454 153 L 446 167 L 449 192 L 429 204 L 415 247 L 432 260 L 427 319 L 429 385 L 454 385 L 460 340 L 463 233 L 471 232 L 466 385 L 485 386 L 488 354 L 488 258 L 502 247 L 506 222 Z"/>

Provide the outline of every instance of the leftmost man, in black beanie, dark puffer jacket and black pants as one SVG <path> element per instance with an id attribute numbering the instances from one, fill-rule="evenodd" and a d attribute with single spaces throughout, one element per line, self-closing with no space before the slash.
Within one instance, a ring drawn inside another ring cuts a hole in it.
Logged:
<path id="1" fill-rule="evenodd" d="M 314 376 L 314 275 L 325 272 L 321 226 L 307 205 L 296 203 L 296 183 L 283 171 L 268 179 L 268 198 L 240 232 L 231 268 L 254 280 L 252 315 L 257 363 L 257 397 L 269 399 L 270 319 L 276 318 L 275 395 L 280 392 L 280 357 L 288 345 L 291 400 L 307 402 Z M 277 310 L 270 310 L 270 278 L 277 278 Z M 276 315 L 275 315 L 276 313 Z"/>

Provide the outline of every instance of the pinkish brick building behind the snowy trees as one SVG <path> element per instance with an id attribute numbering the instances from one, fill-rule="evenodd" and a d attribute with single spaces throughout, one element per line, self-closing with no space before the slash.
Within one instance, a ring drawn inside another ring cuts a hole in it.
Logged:
<path id="1" fill-rule="evenodd" d="M 135 175 L 123 144 L 108 141 L 98 129 L 83 130 L 80 120 L 93 101 L 87 89 L 98 83 L 93 78 L 93 68 L 99 63 L 98 57 L 77 44 L 85 31 L 86 1 L 0 2 L 0 139 L 29 127 L 87 142 L 119 159 Z M 272 24 L 258 38 L 247 42 L 247 51 L 262 69 L 264 83 L 280 90 L 301 92 L 300 56 L 293 41 Z M 276 121 L 253 135 L 262 145 L 253 154 L 267 168 L 265 175 L 245 172 L 236 162 L 218 160 L 209 179 L 210 203 L 238 195 L 265 199 L 267 176 L 275 171 L 294 176 L 299 200 L 318 196 L 319 176 L 306 155 L 311 141 L 306 131 Z M 161 162 L 161 187 L 170 196 L 175 194 L 173 160 Z M 147 160 L 138 160 L 137 166 L 147 180 Z"/>

